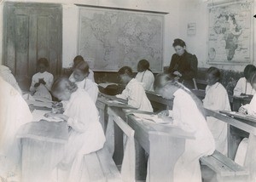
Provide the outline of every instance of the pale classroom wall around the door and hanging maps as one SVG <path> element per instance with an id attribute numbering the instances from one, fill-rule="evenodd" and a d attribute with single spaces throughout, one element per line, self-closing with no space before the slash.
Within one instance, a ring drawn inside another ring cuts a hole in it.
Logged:
<path id="1" fill-rule="evenodd" d="M 14 0 L 13 0 L 14 1 Z M 163 65 L 170 64 L 174 50 L 173 39 L 182 38 L 187 43 L 190 53 L 196 54 L 200 67 L 209 67 L 207 64 L 207 3 L 218 3 L 226 0 L 15 0 L 15 2 L 27 3 L 61 3 L 63 6 L 63 45 L 62 66 L 72 65 L 73 57 L 77 54 L 78 43 L 78 8 L 74 3 L 84 5 L 106 6 L 124 9 L 142 9 L 149 11 L 166 12 L 165 37 L 164 37 L 164 60 Z M 235 0 L 234 0 L 235 1 Z M 256 0 L 254 12 L 256 12 Z M 0 0 L 0 14 L 3 14 L 3 0 Z M 253 15 L 253 14 L 252 14 Z M 0 15 L 0 32 L 3 32 L 3 15 Z M 256 20 L 256 19 L 255 19 Z M 254 21 L 255 21 L 254 20 Z M 187 35 L 188 23 L 196 23 L 196 35 Z M 254 23 L 254 26 L 256 23 Z M 256 43 L 256 35 L 253 31 L 253 43 Z M 3 34 L 0 35 L 0 55 L 3 51 Z M 256 47 L 254 46 L 256 53 Z M 256 54 L 253 57 L 255 63 Z M 2 56 L 1 56 L 2 58 Z M 2 59 L 0 62 L 3 62 Z M 214 65 L 224 70 L 242 71 L 244 65 Z"/>

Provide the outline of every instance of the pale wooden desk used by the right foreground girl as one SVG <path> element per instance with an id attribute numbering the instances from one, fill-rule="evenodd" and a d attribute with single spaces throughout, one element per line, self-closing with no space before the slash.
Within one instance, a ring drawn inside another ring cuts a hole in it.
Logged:
<path id="1" fill-rule="evenodd" d="M 180 128 L 145 122 L 129 115 L 127 122 L 135 130 L 135 139 L 149 154 L 148 179 L 150 182 L 173 181 L 173 169 L 183 154 L 185 140 L 194 135 Z"/>

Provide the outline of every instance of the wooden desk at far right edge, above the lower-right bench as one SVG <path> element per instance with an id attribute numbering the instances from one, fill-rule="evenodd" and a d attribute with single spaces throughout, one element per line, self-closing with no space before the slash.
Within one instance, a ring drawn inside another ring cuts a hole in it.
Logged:
<path id="1" fill-rule="evenodd" d="M 232 125 L 236 128 L 240 128 L 243 131 L 246 131 L 249 133 L 249 140 L 248 140 L 248 146 L 247 146 L 247 156 L 245 160 L 245 167 L 249 170 L 250 172 L 250 181 L 254 181 L 256 178 L 256 122 L 251 122 L 248 121 L 246 118 L 245 119 L 235 119 L 232 117 L 225 116 L 223 114 L 220 114 L 216 111 L 207 111 L 207 116 L 211 117 L 216 117 L 219 120 L 223 122 L 227 122 L 229 125 Z M 232 141 L 232 137 L 230 137 L 230 131 L 228 133 L 228 156 L 234 152 L 234 145 L 236 143 Z M 237 146 L 235 147 L 237 149 Z M 236 153 L 236 152 L 235 152 Z"/>

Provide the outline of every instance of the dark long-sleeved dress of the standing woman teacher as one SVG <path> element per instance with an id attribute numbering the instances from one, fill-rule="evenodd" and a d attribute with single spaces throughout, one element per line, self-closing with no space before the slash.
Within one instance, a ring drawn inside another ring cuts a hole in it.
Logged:
<path id="1" fill-rule="evenodd" d="M 184 54 L 179 56 L 178 54 L 172 55 L 172 60 L 169 67 L 169 72 L 179 71 L 182 74 L 179 81 L 183 82 L 188 88 L 194 88 L 193 78 L 197 74 L 197 58 L 195 54 L 189 54 L 186 50 Z"/>

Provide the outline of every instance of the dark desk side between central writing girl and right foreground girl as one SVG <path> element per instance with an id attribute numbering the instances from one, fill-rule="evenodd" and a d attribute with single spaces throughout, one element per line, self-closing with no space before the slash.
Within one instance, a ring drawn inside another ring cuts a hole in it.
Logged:
<path id="1" fill-rule="evenodd" d="M 146 91 L 148 100 L 151 102 L 154 111 L 163 111 L 166 110 L 168 105 L 169 109 L 172 110 L 173 100 L 166 100 L 160 95 L 155 94 L 154 92 Z"/>

